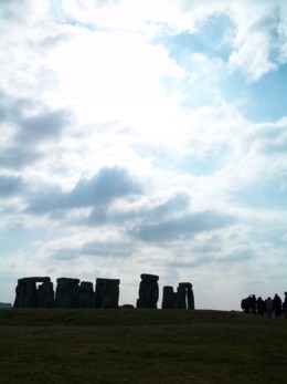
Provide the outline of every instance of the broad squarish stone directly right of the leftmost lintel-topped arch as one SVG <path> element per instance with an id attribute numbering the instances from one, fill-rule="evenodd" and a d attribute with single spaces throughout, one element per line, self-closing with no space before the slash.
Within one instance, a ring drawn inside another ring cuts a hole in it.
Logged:
<path id="1" fill-rule="evenodd" d="M 78 279 L 60 278 L 56 279 L 55 303 L 59 308 L 78 307 Z"/>

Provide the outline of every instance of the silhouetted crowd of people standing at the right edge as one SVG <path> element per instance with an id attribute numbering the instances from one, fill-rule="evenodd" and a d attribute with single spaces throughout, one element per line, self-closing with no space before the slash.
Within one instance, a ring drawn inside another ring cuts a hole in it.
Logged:
<path id="1" fill-rule="evenodd" d="M 284 300 L 277 293 L 273 299 L 268 297 L 263 300 L 262 297 L 256 298 L 255 294 L 251 294 L 246 299 L 242 299 L 241 308 L 245 313 L 287 318 L 287 292 L 284 292 Z"/>

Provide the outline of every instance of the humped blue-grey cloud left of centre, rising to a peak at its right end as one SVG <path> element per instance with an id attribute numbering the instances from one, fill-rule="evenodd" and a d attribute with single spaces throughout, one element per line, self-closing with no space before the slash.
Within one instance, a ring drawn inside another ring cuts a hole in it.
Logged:
<path id="1" fill-rule="evenodd" d="M 107 206 L 116 198 L 139 195 L 140 185 L 127 169 L 102 168 L 91 179 L 79 180 L 70 193 L 62 193 L 57 186 L 50 186 L 44 193 L 33 196 L 28 207 L 31 214 L 44 214 L 53 210 Z"/>

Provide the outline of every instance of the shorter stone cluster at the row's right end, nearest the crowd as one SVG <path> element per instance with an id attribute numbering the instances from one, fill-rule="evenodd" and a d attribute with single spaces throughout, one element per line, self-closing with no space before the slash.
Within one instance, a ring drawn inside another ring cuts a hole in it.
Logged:
<path id="1" fill-rule="evenodd" d="M 177 292 L 173 292 L 173 287 L 164 286 L 161 308 L 194 310 L 192 284 L 190 282 L 180 282 Z"/>

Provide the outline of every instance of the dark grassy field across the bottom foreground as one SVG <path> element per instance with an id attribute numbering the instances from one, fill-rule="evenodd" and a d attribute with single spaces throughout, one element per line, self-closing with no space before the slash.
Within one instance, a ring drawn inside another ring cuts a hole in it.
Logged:
<path id="1" fill-rule="evenodd" d="M 220 311 L 0 310 L 0 383 L 287 383 L 287 320 Z"/>

